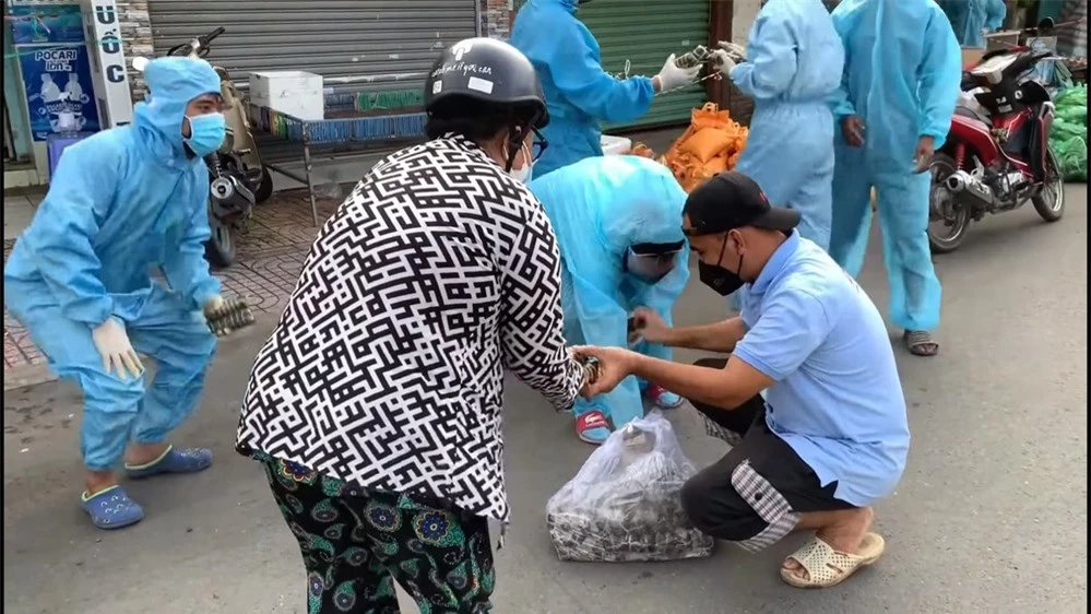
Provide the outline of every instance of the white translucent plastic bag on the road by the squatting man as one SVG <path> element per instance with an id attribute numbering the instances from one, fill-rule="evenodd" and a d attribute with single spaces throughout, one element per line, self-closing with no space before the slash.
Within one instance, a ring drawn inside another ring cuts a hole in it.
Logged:
<path id="1" fill-rule="evenodd" d="M 614 432 L 546 504 L 557 556 L 607 563 L 709 556 L 712 538 L 681 508 L 681 486 L 695 473 L 659 412 Z"/>

